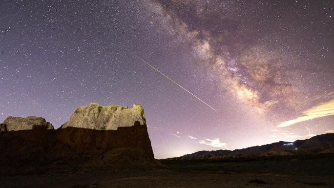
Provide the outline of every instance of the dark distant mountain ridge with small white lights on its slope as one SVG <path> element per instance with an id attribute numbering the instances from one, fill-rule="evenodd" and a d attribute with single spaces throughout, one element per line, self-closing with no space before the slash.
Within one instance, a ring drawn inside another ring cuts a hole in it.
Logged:
<path id="1" fill-rule="evenodd" d="M 262 146 L 235 149 L 233 151 L 222 149 L 216 151 L 197 151 L 181 157 L 162 160 L 224 159 L 316 153 L 334 153 L 334 133 L 317 135 L 306 140 L 296 140 L 294 142 L 280 141 Z"/>

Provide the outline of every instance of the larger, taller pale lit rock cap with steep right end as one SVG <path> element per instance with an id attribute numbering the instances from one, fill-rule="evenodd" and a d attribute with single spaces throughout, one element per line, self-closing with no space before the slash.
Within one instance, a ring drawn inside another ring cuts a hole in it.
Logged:
<path id="1" fill-rule="evenodd" d="M 71 126 L 96 130 L 117 130 L 118 127 L 132 126 L 136 121 L 140 125 L 146 125 L 144 108 L 139 104 L 133 104 L 133 108 L 128 108 L 121 105 L 100 106 L 91 103 L 89 106 L 76 108 L 70 120 L 62 125 L 62 128 Z"/>

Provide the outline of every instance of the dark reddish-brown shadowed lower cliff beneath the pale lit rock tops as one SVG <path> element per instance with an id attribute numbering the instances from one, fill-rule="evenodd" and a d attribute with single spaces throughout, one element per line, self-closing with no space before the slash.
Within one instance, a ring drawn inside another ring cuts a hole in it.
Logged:
<path id="1" fill-rule="evenodd" d="M 146 125 L 136 124 L 0 132 L 0 174 L 163 167 L 154 159 Z"/>

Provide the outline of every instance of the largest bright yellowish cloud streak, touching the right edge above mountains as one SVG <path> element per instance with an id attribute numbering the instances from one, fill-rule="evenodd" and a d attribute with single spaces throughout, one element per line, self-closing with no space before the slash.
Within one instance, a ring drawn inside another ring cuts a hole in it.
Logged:
<path id="1" fill-rule="evenodd" d="M 278 125 L 277 127 L 285 127 L 285 126 L 290 126 L 298 122 L 303 122 L 307 120 L 312 120 L 315 118 L 321 118 L 324 116 L 331 116 L 334 115 L 334 100 L 331 100 L 327 103 L 317 105 L 313 108 L 310 108 L 303 112 L 302 117 L 299 117 L 294 120 L 286 121 Z"/>

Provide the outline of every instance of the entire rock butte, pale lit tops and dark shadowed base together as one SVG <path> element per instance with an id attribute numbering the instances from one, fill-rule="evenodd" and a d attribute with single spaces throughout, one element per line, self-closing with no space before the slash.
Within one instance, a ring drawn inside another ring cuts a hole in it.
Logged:
<path id="1" fill-rule="evenodd" d="M 0 174 L 165 167 L 154 159 L 138 104 L 78 107 L 57 130 L 43 118 L 8 117 L 0 152 Z"/>

